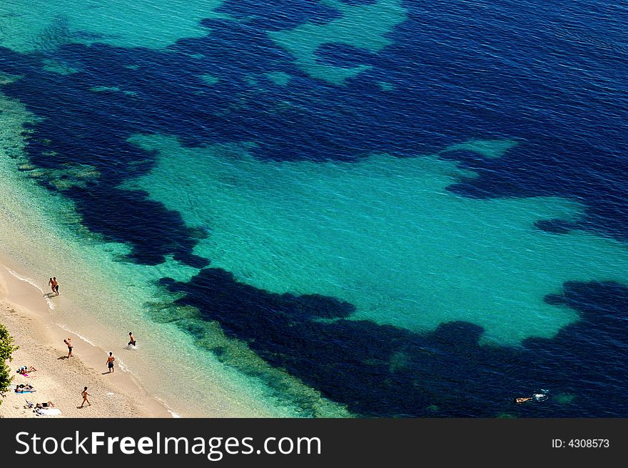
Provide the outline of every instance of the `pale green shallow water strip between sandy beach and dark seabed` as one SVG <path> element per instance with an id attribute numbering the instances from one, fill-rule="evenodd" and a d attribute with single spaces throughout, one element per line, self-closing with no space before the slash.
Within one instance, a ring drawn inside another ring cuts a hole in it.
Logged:
<path id="1" fill-rule="evenodd" d="M 0 274 L 11 284 L 4 296 L 0 294 L 0 302 L 4 298 L 30 307 L 41 317 L 20 322 L 16 329 L 53 323 L 58 333 L 45 341 L 67 354 L 63 339 L 73 337 L 81 359 L 87 357 L 79 352 L 78 336 L 88 339 L 99 349 L 93 364 L 86 363 L 93 369 L 106 370 L 105 353 L 112 351 L 118 366 L 141 382 L 135 389 L 148 390 L 153 400 L 179 417 L 350 416 L 343 405 L 273 369 L 246 343 L 227 337 L 219 324 L 199 320 L 193 308 L 178 307 L 176 295 L 157 284 L 163 277 L 187 282 L 196 269 L 172 257 L 154 266 L 129 262 L 127 244 L 88 231 L 74 202 L 19 171 L 18 165 L 28 162 L 25 124 L 35 116 L 1 91 L 0 107 L 6 121 L 0 131 L 0 174 L 6 192 L 0 197 Z M 47 278 L 53 274 L 60 280 L 61 294 L 44 304 Z M 15 299 L 16 288 L 29 292 Z M 13 315 L 6 309 L 4 314 Z M 188 324 L 198 324 L 203 336 L 188 332 Z M 21 344 L 16 330 L 10 331 Z M 126 349 L 129 331 L 138 337 L 137 350 Z M 235 365 L 223 358 L 224 349 L 233 353 Z"/>

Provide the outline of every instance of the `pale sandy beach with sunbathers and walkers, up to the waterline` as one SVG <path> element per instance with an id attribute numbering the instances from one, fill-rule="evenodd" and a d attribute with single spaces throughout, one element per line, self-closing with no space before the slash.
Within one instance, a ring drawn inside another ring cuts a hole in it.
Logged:
<path id="1" fill-rule="evenodd" d="M 9 363 L 16 384 L 31 384 L 33 393 L 6 392 L 0 417 L 172 417 L 166 407 L 151 397 L 133 376 L 116 364 L 107 372 L 108 352 L 58 327 L 49 317 L 46 297 L 27 282 L 8 274 L 0 266 L 0 323 L 19 346 Z M 71 337 L 74 357 L 68 358 L 64 339 Z M 116 354 L 114 354 L 115 356 Z M 38 369 L 28 377 L 17 374 L 21 366 Z M 91 406 L 81 405 L 81 391 L 88 387 Z M 53 402 L 58 416 L 40 416 L 24 408 L 29 402 Z"/>

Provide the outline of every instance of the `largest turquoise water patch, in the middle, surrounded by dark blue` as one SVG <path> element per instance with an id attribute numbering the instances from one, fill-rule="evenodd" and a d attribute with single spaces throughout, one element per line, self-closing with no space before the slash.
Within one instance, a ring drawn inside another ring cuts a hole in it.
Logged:
<path id="1" fill-rule="evenodd" d="M 188 226 L 211 229 L 197 255 L 266 291 L 355 304 L 353 319 L 419 332 L 465 320 L 488 341 L 516 346 L 577 319 L 543 301 L 565 281 L 628 280 L 611 267 L 628 264 L 619 242 L 535 228 L 542 219 L 577 219 L 577 204 L 457 196 L 447 186 L 469 174 L 437 155 L 269 163 L 238 146 L 185 149 L 163 136 L 131 142 L 160 155 L 133 188 Z M 494 157 L 503 146 L 482 151 Z"/>

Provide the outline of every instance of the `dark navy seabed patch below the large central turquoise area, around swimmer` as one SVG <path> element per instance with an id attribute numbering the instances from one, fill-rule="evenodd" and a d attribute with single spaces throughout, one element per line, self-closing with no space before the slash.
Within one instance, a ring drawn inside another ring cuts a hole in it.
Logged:
<path id="1" fill-rule="evenodd" d="M 482 328 L 467 322 L 417 334 L 341 318 L 347 317 L 349 304 L 310 296 L 304 307 L 301 297 L 240 284 L 220 269 L 204 269 L 188 284 L 163 284 L 185 294 L 177 304 L 196 307 L 202 319 L 218 321 L 228 336 L 247 343 L 273 367 L 357 414 L 628 414 L 621 397 L 628 391 L 622 378 L 628 364 L 628 288 L 619 284 L 566 284 L 564 294 L 547 302 L 576 309 L 579 322 L 554 339 L 527 339 L 520 349 L 480 345 Z M 339 318 L 321 321 L 320 310 Z M 513 397 L 540 388 L 550 390 L 543 404 L 512 404 Z M 561 394 L 574 395 L 574 401 L 565 404 Z"/>

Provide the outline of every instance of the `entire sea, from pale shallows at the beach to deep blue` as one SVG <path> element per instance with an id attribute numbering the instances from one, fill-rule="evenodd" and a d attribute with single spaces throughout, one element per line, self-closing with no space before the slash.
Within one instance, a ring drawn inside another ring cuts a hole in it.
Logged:
<path id="1" fill-rule="evenodd" d="M 183 415 L 624 415 L 625 38 L 582 3 L 5 2 L 0 252 Z"/>

